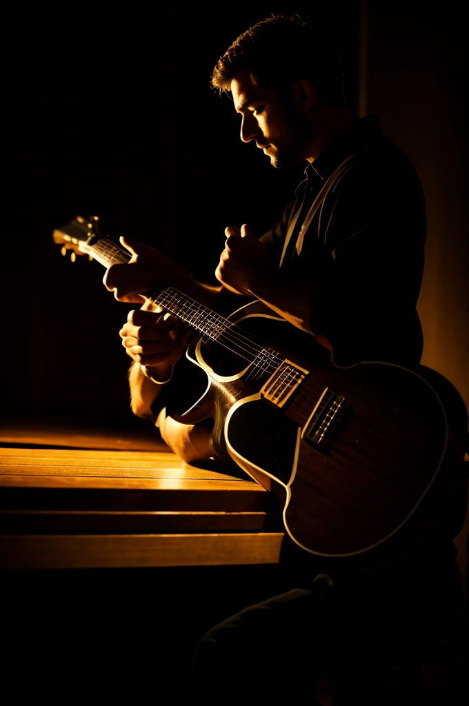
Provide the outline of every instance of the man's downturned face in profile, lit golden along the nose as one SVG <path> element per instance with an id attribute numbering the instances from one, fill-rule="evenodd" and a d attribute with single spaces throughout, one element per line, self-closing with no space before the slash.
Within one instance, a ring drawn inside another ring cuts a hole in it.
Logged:
<path id="1" fill-rule="evenodd" d="M 231 82 L 236 111 L 242 115 L 241 139 L 271 158 L 273 167 L 290 167 L 307 157 L 309 123 L 280 101 L 270 88 L 259 88 L 249 68 Z"/>

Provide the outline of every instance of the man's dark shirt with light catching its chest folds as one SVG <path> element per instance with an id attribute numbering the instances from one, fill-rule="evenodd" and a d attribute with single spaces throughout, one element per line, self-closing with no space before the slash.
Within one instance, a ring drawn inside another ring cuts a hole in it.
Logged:
<path id="1" fill-rule="evenodd" d="M 418 364 L 426 217 L 412 162 L 369 116 L 304 173 L 282 220 L 261 241 L 271 261 L 317 283 L 311 330 L 331 341 L 338 364 Z"/>

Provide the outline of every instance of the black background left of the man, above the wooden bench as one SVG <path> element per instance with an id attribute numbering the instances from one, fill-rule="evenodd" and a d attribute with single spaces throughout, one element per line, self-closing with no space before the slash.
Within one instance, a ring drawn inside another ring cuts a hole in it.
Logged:
<path id="1" fill-rule="evenodd" d="M 261 234 L 304 165 L 278 172 L 239 140 L 230 98 L 210 88 L 218 56 L 271 13 L 316 18 L 357 106 L 357 1 L 230 8 L 115 6 L 57 16 L 11 11 L 6 32 L 5 306 L 0 414 L 142 429 L 129 409 L 119 328 L 132 306 L 104 268 L 52 241 L 77 214 L 141 240 L 215 282 L 228 225 Z M 149 427 L 148 427 L 149 428 Z"/>

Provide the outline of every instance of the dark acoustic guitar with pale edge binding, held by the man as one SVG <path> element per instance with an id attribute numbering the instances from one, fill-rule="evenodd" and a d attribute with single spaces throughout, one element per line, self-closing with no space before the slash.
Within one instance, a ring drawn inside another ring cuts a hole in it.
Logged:
<path id="1" fill-rule="evenodd" d="M 95 217 L 53 238 L 106 268 L 130 259 Z M 468 414 L 446 378 L 382 361 L 340 368 L 257 300 L 224 318 L 173 287 L 149 298 L 195 332 L 191 392 L 174 395 L 171 416 L 213 419 L 214 455 L 278 496 L 297 545 L 370 567 L 427 536 L 463 475 Z"/>

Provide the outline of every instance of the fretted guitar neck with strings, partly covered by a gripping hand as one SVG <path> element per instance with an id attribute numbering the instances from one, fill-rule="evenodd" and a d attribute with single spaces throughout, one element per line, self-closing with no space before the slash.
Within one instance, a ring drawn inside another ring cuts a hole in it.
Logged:
<path id="1" fill-rule="evenodd" d="M 85 242 L 80 244 L 81 251 L 91 255 L 97 262 L 106 268 L 114 264 L 128 263 L 131 256 L 124 249 L 113 243 L 108 238 L 102 238 L 93 245 Z M 271 349 L 263 347 L 253 337 L 239 329 L 231 321 L 215 313 L 207 306 L 199 304 L 195 299 L 187 297 L 174 287 L 167 287 L 161 292 L 150 294 L 148 299 L 162 311 L 167 311 L 182 321 L 188 323 L 208 339 L 218 341 L 249 362 L 268 357 L 270 361 L 277 357 Z M 279 357 L 280 359 L 280 357 Z"/>

